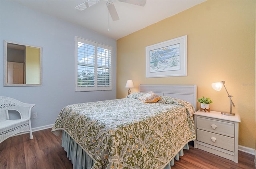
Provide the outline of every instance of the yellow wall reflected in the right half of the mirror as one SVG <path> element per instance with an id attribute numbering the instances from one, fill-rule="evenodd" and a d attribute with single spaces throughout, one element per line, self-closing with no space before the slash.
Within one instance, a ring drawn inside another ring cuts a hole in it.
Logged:
<path id="1" fill-rule="evenodd" d="M 40 48 L 26 46 L 26 84 L 40 83 Z"/>

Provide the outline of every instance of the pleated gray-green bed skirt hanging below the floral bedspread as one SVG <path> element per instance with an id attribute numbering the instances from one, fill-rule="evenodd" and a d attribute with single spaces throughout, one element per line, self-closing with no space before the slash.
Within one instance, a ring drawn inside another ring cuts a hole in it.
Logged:
<path id="1" fill-rule="evenodd" d="M 74 141 L 69 134 L 62 131 L 62 147 L 67 152 L 67 157 L 73 164 L 73 169 L 91 169 L 94 165 L 92 158 Z M 179 160 L 179 156 L 183 156 L 183 149 L 189 149 L 188 143 L 174 156 L 174 158 L 164 167 L 170 169 L 174 165 L 174 159 Z"/>

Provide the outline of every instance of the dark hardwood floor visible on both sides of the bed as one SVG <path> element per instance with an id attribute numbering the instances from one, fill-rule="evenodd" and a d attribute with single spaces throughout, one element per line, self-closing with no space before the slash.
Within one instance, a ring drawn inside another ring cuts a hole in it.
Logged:
<path id="1" fill-rule="evenodd" d="M 51 129 L 8 138 L 0 144 L 0 169 L 72 169 L 66 151 L 61 147 L 61 136 Z M 172 169 L 255 169 L 254 156 L 239 151 L 239 163 L 195 149 L 184 150 Z"/>

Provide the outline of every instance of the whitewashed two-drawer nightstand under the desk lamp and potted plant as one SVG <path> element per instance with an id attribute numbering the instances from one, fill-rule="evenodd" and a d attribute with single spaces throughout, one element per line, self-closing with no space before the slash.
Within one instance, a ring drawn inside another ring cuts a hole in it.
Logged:
<path id="1" fill-rule="evenodd" d="M 225 116 L 221 112 L 201 112 L 195 115 L 194 147 L 238 163 L 238 126 L 240 116 Z"/>

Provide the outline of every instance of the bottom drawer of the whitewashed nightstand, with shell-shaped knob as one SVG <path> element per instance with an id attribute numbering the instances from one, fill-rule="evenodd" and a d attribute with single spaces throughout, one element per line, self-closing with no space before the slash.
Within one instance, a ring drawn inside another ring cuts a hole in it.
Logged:
<path id="1" fill-rule="evenodd" d="M 196 140 L 234 152 L 234 138 L 196 130 Z"/>

